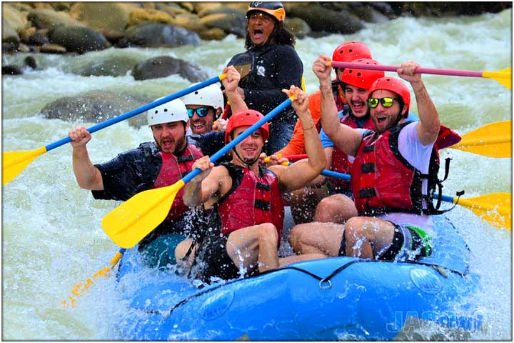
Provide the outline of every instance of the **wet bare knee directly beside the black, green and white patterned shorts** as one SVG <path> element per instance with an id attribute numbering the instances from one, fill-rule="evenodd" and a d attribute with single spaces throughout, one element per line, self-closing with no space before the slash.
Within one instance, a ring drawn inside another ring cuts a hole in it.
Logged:
<path id="1" fill-rule="evenodd" d="M 393 242 L 395 227 L 390 222 L 372 217 L 353 217 L 345 225 L 346 255 L 373 259 Z"/>

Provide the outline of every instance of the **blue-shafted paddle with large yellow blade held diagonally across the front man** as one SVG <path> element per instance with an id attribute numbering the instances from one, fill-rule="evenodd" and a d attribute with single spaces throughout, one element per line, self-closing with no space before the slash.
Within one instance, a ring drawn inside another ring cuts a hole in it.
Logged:
<path id="1" fill-rule="evenodd" d="M 291 105 L 292 101 L 293 96 L 283 101 L 282 104 L 266 114 L 256 124 L 250 126 L 220 151 L 213 154 L 211 161 L 214 162 L 222 157 L 239 142 L 243 141 L 243 139 L 250 136 L 253 131 L 256 131 L 256 129 L 270 121 L 273 116 L 286 109 L 287 106 Z M 171 186 L 150 189 L 131 197 L 131 199 L 116 207 L 116 209 L 106 214 L 104 219 L 102 219 L 101 224 L 104 232 L 120 247 L 133 247 L 157 227 L 158 224 L 163 222 L 178 191 L 200 173 L 201 169 L 196 168 Z"/>

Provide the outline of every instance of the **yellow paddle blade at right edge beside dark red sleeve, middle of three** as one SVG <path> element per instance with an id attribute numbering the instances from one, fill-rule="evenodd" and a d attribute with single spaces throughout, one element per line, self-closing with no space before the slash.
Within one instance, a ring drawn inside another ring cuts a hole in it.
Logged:
<path id="1" fill-rule="evenodd" d="M 512 157 L 512 121 L 496 121 L 464 134 L 462 141 L 450 146 L 490 157 Z"/>

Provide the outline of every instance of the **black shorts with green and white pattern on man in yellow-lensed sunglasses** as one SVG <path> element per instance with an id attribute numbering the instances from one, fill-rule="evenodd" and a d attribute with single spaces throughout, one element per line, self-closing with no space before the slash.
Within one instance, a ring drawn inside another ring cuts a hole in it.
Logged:
<path id="1" fill-rule="evenodd" d="M 427 257 L 430 255 L 430 247 L 427 245 L 428 238 L 422 239 L 418 231 L 423 232 L 418 227 L 413 227 L 409 224 L 395 224 L 391 223 L 395 227 L 393 235 L 393 242 L 389 245 L 385 251 L 379 252 L 376 259 L 381 261 L 405 261 L 405 260 L 416 260 L 420 257 Z M 405 237 L 405 234 L 410 237 Z M 410 238 L 410 239 L 408 239 Z M 406 242 L 408 241 L 408 242 Z M 345 256 L 346 252 L 346 232 L 343 232 L 343 238 L 341 239 L 341 246 L 339 247 L 339 256 Z"/>

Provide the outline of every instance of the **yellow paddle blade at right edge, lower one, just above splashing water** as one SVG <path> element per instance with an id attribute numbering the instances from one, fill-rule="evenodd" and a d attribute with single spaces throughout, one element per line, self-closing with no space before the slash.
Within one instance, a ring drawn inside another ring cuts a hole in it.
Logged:
<path id="1" fill-rule="evenodd" d="M 457 197 L 453 202 L 457 201 Z M 475 214 L 498 229 L 512 230 L 512 194 L 491 193 L 480 197 L 458 200 L 458 204 L 469 207 Z"/>

